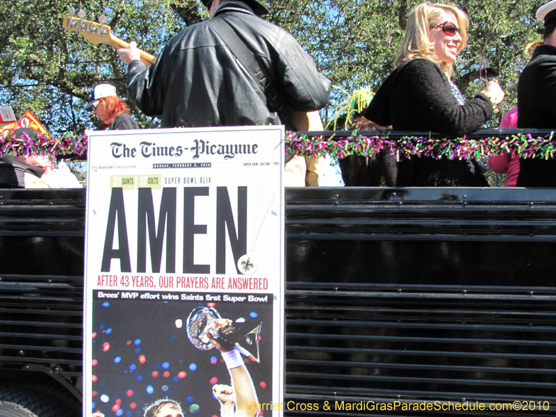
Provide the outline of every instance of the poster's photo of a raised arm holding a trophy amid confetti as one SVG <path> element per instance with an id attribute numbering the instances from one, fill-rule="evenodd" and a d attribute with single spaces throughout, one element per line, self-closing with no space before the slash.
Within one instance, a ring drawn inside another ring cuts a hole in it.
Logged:
<path id="1" fill-rule="evenodd" d="M 95 295 L 90 416 L 255 417 L 247 404 L 272 401 L 272 295 Z"/>

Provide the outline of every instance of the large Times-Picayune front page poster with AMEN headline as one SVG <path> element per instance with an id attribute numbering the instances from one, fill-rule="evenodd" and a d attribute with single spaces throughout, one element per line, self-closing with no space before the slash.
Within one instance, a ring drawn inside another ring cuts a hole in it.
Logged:
<path id="1" fill-rule="evenodd" d="M 84 416 L 282 414 L 283 138 L 92 133 Z"/>

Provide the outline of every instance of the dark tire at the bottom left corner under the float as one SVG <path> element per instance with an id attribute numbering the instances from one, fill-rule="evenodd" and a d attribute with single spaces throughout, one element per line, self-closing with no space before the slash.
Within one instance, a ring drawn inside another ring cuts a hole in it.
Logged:
<path id="1" fill-rule="evenodd" d="M 74 417 L 67 407 L 46 393 L 25 387 L 0 386 L 0 417 Z"/>

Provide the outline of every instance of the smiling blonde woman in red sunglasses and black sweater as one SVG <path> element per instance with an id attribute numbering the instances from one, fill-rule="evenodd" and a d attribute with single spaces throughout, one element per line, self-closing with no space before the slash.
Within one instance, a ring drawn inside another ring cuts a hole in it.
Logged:
<path id="1" fill-rule="evenodd" d="M 467 43 L 469 19 L 442 3 L 421 3 L 409 13 L 395 70 L 370 102 L 365 117 L 395 130 L 463 136 L 480 129 L 504 98 L 496 81 L 466 101 L 450 79 Z M 404 158 L 395 186 L 487 186 L 475 161 Z"/>

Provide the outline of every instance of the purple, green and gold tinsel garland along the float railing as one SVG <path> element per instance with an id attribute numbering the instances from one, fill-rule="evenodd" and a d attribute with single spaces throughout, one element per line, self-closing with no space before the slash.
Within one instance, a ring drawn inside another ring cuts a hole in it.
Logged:
<path id="1" fill-rule="evenodd" d="M 375 152 L 390 149 L 398 159 L 405 156 L 432 156 L 434 158 L 466 159 L 499 155 L 502 152 L 516 154 L 519 158 L 554 158 L 556 138 L 553 133 L 534 137 L 519 133 L 502 138 L 430 138 L 425 136 L 362 136 L 353 131 L 352 136 L 323 138 L 297 135 L 288 131 L 284 138 L 286 154 L 300 156 L 325 156 L 345 158 L 348 155 L 371 156 Z M 26 133 L 19 136 L 8 134 L 0 138 L 0 155 L 28 156 L 47 154 L 54 156 L 85 156 L 88 138 L 65 136 L 55 138 L 37 135 L 30 138 Z"/>

